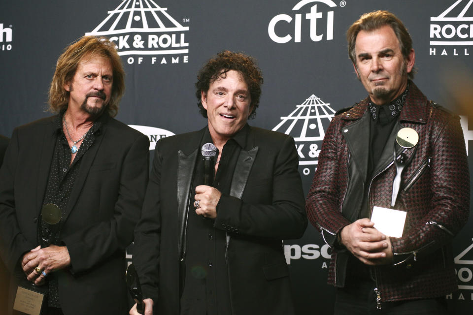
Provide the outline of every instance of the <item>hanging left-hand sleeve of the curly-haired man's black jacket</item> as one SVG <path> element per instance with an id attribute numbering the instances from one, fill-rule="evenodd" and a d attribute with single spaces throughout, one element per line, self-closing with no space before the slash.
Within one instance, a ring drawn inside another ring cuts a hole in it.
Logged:
<path id="1" fill-rule="evenodd" d="M 135 228 L 133 264 L 139 276 L 143 299 L 158 300 L 161 208 L 160 183 L 161 165 L 160 142 L 156 143 L 153 167 L 143 202 L 141 218 Z"/>

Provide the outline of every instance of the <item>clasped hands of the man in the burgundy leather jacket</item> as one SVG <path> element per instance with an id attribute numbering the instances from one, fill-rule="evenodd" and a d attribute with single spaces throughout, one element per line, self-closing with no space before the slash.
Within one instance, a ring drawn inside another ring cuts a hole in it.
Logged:
<path id="1" fill-rule="evenodd" d="M 367 265 L 388 264 L 393 259 L 391 241 L 373 226 L 369 219 L 360 219 L 343 227 L 341 243 Z"/>

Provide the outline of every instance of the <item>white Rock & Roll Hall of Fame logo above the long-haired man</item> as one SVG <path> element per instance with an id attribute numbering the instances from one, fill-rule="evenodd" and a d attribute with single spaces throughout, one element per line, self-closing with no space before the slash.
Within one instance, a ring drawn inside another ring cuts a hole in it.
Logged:
<path id="1" fill-rule="evenodd" d="M 153 0 L 123 0 L 86 35 L 104 35 L 117 45 L 127 63 L 187 63 L 189 43 L 183 27 Z M 183 19 L 189 22 L 189 19 Z M 139 56 L 139 57 L 133 57 Z"/>

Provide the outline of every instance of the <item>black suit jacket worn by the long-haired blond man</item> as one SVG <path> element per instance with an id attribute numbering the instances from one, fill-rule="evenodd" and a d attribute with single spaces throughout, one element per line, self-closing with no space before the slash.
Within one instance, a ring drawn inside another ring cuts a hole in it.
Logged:
<path id="1" fill-rule="evenodd" d="M 149 140 L 108 115 L 101 120 L 62 218 L 71 266 L 57 274 L 66 315 L 127 314 L 125 248 L 146 190 Z M 0 252 L 19 277 L 19 258 L 37 246 L 55 130 L 55 117 L 16 128 L 0 169 Z"/>

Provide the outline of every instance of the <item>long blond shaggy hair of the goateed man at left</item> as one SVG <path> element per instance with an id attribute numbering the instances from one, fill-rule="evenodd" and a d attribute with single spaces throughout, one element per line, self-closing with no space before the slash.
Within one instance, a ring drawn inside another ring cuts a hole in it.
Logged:
<path id="1" fill-rule="evenodd" d="M 113 69 L 113 83 L 107 111 L 111 117 L 118 113 L 118 104 L 125 93 L 125 71 L 118 56 L 115 44 L 100 36 L 82 36 L 75 43 L 66 47 L 56 63 L 56 71 L 49 88 L 49 111 L 60 112 L 68 107 L 69 92 L 64 85 L 71 82 L 79 63 L 84 58 L 102 57 L 110 61 Z"/>

